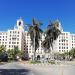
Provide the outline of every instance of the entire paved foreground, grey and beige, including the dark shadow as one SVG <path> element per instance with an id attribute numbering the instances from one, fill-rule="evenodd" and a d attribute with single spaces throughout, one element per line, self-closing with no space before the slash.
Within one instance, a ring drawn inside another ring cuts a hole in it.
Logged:
<path id="1" fill-rule="evenodd" d="M 75 75 L 75 65 L 20 64 L 0 66 L 0 75 Z"/>

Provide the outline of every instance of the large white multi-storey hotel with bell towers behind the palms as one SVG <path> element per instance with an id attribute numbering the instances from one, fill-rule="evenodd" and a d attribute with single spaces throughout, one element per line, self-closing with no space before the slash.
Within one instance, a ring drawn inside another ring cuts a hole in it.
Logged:
<path id="1" fill-rule="evenodd" d="M 17 20 L 16 27 L 8 31 L 0 31 L 0 45 L 4 45 L 6 50 L 13 49 L 14 46 L 18 46 L 19 50 L 26 51 L 29 57 L 33 57 L 34 49 L 31 45 L 30 35 L 26 31 L 24 21 L 20 18 Z M 64 32 L 59 22 L 59 29 L 62 34 L 53 43 L 53 52 L 64 53 L 68 52 L 75 47 L 75 34 L 70 32 Z M 36 57 L 44 57 L 44 49 L 41 46 L 41 42 L 44 40 L 44 34 L 42 39 L 39 41 L 39 48 L 36 50 Z M 47 56 L 49 56 L 48 54 Z"/>

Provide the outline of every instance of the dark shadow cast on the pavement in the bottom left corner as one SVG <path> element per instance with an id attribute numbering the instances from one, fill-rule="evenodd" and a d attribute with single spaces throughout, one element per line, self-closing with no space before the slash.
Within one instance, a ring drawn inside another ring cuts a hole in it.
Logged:
<path id="1" fill-rule="evenodd" d="M 27 69 L 0 69 L 0 75 L 28 75 Z"/>

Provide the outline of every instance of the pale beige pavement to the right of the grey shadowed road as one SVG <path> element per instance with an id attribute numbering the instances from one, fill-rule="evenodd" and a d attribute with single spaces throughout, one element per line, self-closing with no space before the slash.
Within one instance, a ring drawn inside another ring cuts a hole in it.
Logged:
<path id="1" fill-rule="evenodd" d="M 25 65 L 26 66 L 26 65 Z M 75 75 L 75 65 L 27 65 L 34 75 Z"/>

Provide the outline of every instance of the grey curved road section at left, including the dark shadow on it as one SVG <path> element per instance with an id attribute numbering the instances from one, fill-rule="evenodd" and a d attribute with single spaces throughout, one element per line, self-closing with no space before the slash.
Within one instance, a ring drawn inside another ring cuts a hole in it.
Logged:
<path id="1" fill-rule="evenodd" d="M 0 65 L 0 75 L 32 75 L 32 72 L 17 62 Z"/>

